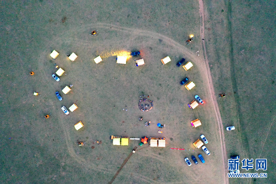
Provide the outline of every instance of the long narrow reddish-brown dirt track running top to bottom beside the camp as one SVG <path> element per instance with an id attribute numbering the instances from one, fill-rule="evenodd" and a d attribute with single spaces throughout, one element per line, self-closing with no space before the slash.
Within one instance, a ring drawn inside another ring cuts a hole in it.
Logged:
<path id="1" fill-rule="evenodd" d="M 203 7 L 203 2 L 202 0 L 199 0 L 199 14 L 200 14 L 200 36 L 201 39 L 204 39 L 205 34 L 204 34 L 204 17 L 205 17 L 205 13 L 204 13 L 204 7 Z M 211 71 L 209 68 L 209 62 L 207 59 L 207 53 L 206 53 L 206 47 L 205 47 L 205 41 L 202 40 L 202 50 L 204 52 L 204 62 L 205 62 L 205 71 L 206 71 L 206 75 L 207 75 L 207 80 L 209 82 L 208 85 L 208 89 L 209 89 L 209 93 L 210 93 L 210 99 L 211 102 L 214 105 L 214 109 L 216 112 L 216 117 L 217 117 L 217 123 L 218 123 L 218 127 L 219 127 L 219 132 L 220 132 L 220 144 L 221 144 L 221 152 L 222 152 L 222 161 L 223 161 L 223 171 L 224 171 L 224 183 L 228 184 L 229 183 L 229 178 L 227 177 L 227 164 L 225 163 L 225 159 L 227 158 L 227 154 L 226 154 L 226 147 L 225 147 L 225 138 L 224 138 L 224 132 L 223 132 L 223 124 L 222 124 L 222 120 L 221 120 L 221 116 L 220 116 L 220 109 L 218 107 L 218 103 L 217 103 L 217 95 L 215 94 L 215 90 L 213 88 L 213 81 L 212 81 L 212 76 L 211 76 Z"/>

